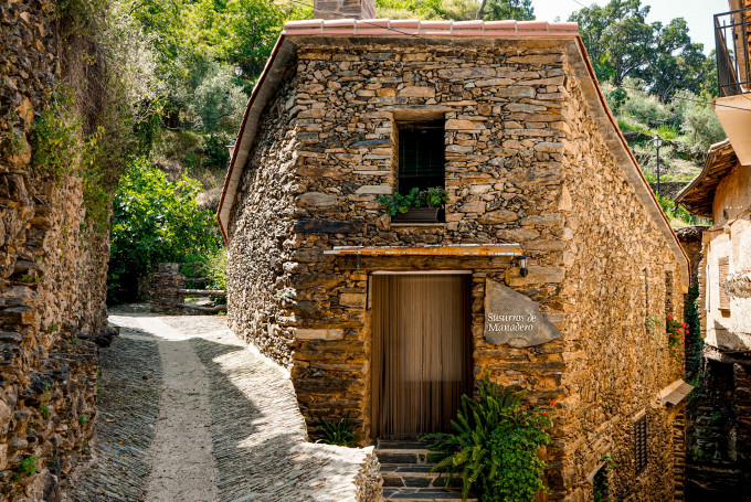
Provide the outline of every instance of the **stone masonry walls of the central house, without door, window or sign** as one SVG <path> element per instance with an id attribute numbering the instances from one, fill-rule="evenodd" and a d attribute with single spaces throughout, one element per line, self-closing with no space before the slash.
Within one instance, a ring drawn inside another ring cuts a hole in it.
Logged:
<path id="1" fill-rule="evenodd" d="M 468 270 L 475 377 L 487 371 L 527 388 L 537 405 L 559 403 L 550 500 L 589 500 L 586 478 L 603 455 L 615 456 L 620 499 L 671 498 L 681 408 L 666 409 L 657 394 L 681 377 L 683 351 L 669 350 L 659 330 L 647 332 L 645 318 L 681 317 L 683 264 L 596 131 L 578 84 L 560 76 L 568 57 L 560 41 L 473 45 L 515 64 L 424 43 L 348 40 L 300 43 L 263 121 L 230 226 L 235 328 L 292 366 L 314 436 L 321 417 L 350 413 L 368 438 L 370 274 Z M 436 117 L 445 119 L 446 221 L 394 223 L 377 196 L 396 184 L 395 126 Z M 289 231 L 294 237 L 282 238 Z M 459 243 L 520 243 L 529 275 L 508 257 L 324 254 Z M 563 337 L 531 348 L 489 343 L 488 280 L 537 301 Z M 285 288 L 294 301 L 284 300 Z M 632 419 L 639 414 L 648 417 L 650 460 L 637 478 Z"/>

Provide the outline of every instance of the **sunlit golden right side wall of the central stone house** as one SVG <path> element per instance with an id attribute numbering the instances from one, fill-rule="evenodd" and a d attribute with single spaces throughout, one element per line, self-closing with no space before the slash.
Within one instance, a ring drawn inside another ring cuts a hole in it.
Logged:
<path id="1" fill-rule="evenodd" d="M 592 127 L 592 111 L 578 87 L 569 89 L 571 133 L 565 138 L 569 167 L 564 188 L 571 205 L 562 212 L 567 239 L 565 299 L 568 389 L 565 416 L 575 439 L 564 463 L 583 480 L 613 455 L 611 479 L 616 500 L 671 500 L 676 463 L 673 430 L 680 409 L 656 403 L 656 394 L 684 376 L 683 348 L 668 349 L 665 327 L 649 332 L 647 316 L 662 321 L 683 317 L 679 264 L 666 247 L 634 188 Z M 595 173 L 592 175 L 591 173 Z M 565 238 L 565 237 L 564 237 Z M 633 419 L 646 413 L 646 471 L 634 472 Z M 573 500 L 586 500 L 586 483 L 571 487 Z"/>

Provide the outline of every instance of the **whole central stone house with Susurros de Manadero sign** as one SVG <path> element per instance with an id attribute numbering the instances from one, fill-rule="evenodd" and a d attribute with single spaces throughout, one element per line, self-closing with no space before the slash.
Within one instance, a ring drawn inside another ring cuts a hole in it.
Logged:
<path id="1" fill-rule="evenodd" d="M 385 214 L 409 183 L 445 188 L 437 221 Z M 574 23 L 287 23 L 218 220 L 232 327 L 311 434 L 445 430 L 487 372 L 557 403 L 550 500 L 591 500 L 606 455 L 614 495 L 680 496 L 688 261 Z"/>

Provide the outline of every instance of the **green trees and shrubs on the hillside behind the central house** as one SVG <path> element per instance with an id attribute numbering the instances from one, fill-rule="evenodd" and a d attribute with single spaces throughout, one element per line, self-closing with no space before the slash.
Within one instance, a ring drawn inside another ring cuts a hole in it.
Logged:
<path id="1" fill-rule="evenodd" d="M 176 193 L 183 196 L 191 179 L 200 182 L 197 205 L 178 204 L 182 221 L 211 221 L 226 173 L 226 145 L 234 138 L 247 97 L 286 21 L 313 15 L 311 1 L 295 0 L 108 0 L 123 11 L 138 32 L 133 57 L 142 62 L 141 86 L 147 96 L 139 113 L 145 119 L 136 133 L 139 148 L 133 151 L 130 171 L 145 172 L 148 164 L 167 173 L 154 190 L 145 188 L 140 207 L 148 196 Z M 582 8 L 571 15 L 580 23 L 607 102 L 634 149 L 644 172 L 654 180 L 654 135 L 666 140 L 660 149 L 662 180 L 687 181 L 700 170 L 709 145 L 724 138 L 708 100 L 716 94 L 713 56 L 688 35 L 686 21 L 647 23 L 649 8 L 639 0 L 611 0 L 606 6 Z M 392 19 L 517 19 L 536 18 L 531 0 L 377 0 L 377 15 Z M 127 51 L 128 46 L 123 47 Z M 236 70 L 242 71 L 240 76 Z M 183 178 L 187 177 L 187 178 Z M 157 180 L 152 175 L 146 180 Z M 163 185 L 165 182 L 173 185 Z M 192 186 L 192 185 L 191 185 Z M 170 235 L 179 228 L 155 227 L 129 232 L 135 214 L 125 203 L 131 189 L 120 188 L 114 225 L 121 235 Z M 666 202 L 669 206 L 669 201 Z M 676 225 L 694 221 L 684 211 L 671 215 Z M 167 214 L 149 214 L 155 225 Z M 210 232 L 216 232 L 210 228 Z M 146 243 L 150 256 L 174 261 L 221 263 L 221 239 L 204 237 Z M 145 245 L 146 245 L 145 244 Z M 163 244 L 163 248 L 159 248 Z M 145 277 L 156 265 L 129 256 L 131 247 L 115 246 L 110 275 L 113 291 L 125 292 L 123 277 Z M 128 299 L 128 295 L 120 295 Z"/>

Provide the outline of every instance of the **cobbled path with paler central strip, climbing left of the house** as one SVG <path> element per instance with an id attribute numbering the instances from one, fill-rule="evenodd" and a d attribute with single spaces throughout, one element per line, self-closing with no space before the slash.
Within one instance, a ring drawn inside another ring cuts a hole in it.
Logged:
<path id="1" fill-rule="evenodd" d="M 287 372 L 221 317 L 117 311 L 68 502 L 353 501 L 362 450 L 306 441 Z"/>

